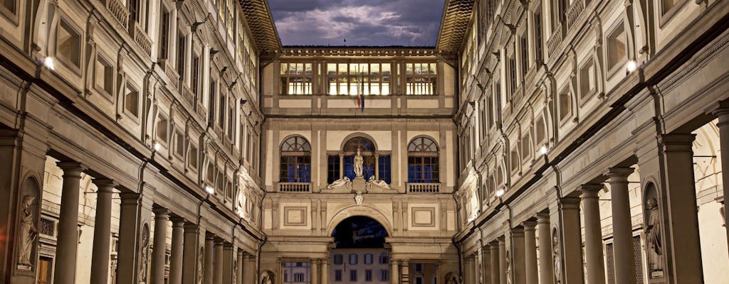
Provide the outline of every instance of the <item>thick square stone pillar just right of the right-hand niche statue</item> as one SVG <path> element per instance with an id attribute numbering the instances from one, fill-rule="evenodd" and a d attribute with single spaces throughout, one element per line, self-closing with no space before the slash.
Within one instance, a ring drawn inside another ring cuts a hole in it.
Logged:
<path id="1" fill-rule="evenodd" d="M 665 200 L 659 200 L 658 203 L 660 210 L 663 211 L 663 218 L 668 217 L 668 220 L 663 219 L 662 223 L 665 225 L 663 235 L 666 236 L 663 238 L 666 240 L 666 244 L 663 244 L 663 256 L 669 258 L 666 259 L 664 267 L 668 268 L 668 264 L 671 265 L 670 273 L 673 274 L 674 283 L 703 283 L 701 242 L 699 242 L 696 212 L 698 206 L 693 175 L 694 139 L 693 134 L 660 136 L 666 186 L 660 190 Z M 669 238 L 670 240 L 667 240 Z M 617 243 L 615 250 L 617 251 Z M 665 272 L 666 269 L 664 275 Z"/>

